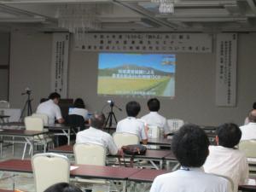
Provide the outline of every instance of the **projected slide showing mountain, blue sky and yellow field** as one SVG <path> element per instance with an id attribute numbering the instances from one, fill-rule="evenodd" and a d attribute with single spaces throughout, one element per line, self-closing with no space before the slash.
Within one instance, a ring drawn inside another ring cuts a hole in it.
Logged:
<path id="1" fill-rule="evenodd" d="M 99 95 L 174 96 L 175 55 L 100 53 Z"/>

